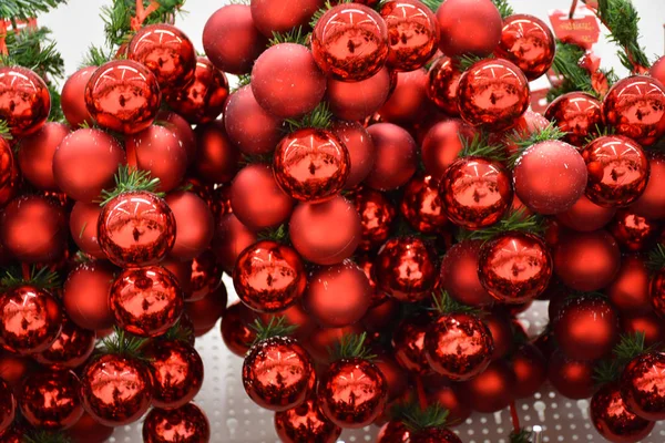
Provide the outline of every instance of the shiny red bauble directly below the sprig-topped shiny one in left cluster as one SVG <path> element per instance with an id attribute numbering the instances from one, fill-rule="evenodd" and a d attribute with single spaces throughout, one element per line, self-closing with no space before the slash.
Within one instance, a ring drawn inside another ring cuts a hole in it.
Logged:
<path id="1" fill-rule="evenodd" d="M 175 324 L 184 309 L 175 276 L 158 266 L 123 270 L 111 287 L 115 323 L 139 337 L 157 337 Z"/>

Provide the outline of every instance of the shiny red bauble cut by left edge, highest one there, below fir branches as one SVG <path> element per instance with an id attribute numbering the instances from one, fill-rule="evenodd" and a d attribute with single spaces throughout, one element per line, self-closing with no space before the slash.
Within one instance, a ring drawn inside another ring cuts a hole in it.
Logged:
<path id="1" fill-rule="evenodd" d="M 51 95 L 41 76 L 21 66 L 0 68 L 0 120 L 11 135 L 39 131 L 51 111 Z"/>

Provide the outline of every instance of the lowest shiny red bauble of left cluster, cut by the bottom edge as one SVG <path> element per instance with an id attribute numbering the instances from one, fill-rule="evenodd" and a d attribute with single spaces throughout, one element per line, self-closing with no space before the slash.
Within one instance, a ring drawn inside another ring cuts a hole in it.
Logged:
<path id="1" fill-rule="evenodd" d="M 143 422 L 145 443 L 207 443 L 211 424 L 194 403 L 174 410 L 153 409 Z"/>

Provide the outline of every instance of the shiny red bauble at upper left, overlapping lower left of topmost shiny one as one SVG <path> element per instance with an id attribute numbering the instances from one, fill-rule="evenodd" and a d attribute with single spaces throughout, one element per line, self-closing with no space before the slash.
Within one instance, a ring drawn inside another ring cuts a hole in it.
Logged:
<path id="1" fill-rule="evenodd" d="M 85 105 L 104 130 L 135 134 L 152 124 L 162 94 L 153 73 L 132 60 L 100 66 L 85 86 Z"/>

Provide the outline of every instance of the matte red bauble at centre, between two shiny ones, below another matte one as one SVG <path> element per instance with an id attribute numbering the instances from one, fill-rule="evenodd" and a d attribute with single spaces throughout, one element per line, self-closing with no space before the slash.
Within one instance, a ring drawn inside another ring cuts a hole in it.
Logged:
<path id="1" fill-rule="evenodd" d="M 341 328 L 360 320 L 371 303 L 367 276 L 345 260 L 317 269 L 308 277 L 303 306 L 324 328 Z"/>

